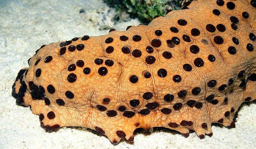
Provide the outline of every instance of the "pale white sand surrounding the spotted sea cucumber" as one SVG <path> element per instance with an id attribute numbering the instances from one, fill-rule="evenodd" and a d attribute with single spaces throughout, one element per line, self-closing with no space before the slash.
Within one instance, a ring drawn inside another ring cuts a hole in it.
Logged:
<path id="1" fill-rule="evenodd" d="M 43 44 L 85 34 L 108 34 L 108 30 L 99 31 L 79 14 L 84 8 L 86 15 L 93 16 L 89 12 L 104 6 L 102 1 L 93 0 L 0 1 L 0 148 L 256 148 L 256 104 L 241 108 L 235 129 L 213 126 L 211 138 L 200 140 L 195 133 L 184 138 L 162 129 L 149 135 L 136 133 L 134 144 L 122 140 L 118 145 L 89 129 L 64 127 L 45 132 L 38 115 L 17 106 L 11 87 L 18 71 L 28 67 L 27 60 L 34 51 Z M 115 28 L 125 30 L 128 25 L 138 24 L 131 20 Z"/>

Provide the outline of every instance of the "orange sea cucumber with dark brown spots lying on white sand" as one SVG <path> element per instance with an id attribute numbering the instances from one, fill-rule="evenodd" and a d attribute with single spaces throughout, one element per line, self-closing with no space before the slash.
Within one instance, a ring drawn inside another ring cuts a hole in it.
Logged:
<path id="1" fill-rule="evenodd" d="M 46 131 L 88 127 L 112 143 L 133 142 L 136 128 L 162 126 L 185 137 L 194 130 L 199 138 L 212 135 L 212 123 L 233 128 L 241 103 L 256 99 L 256 8 L 253 0 L 220 5 L 193 1 L 148 26 L 42 46 L 19 72 L 12 95 L 40 115 Z"/>

